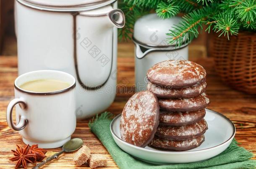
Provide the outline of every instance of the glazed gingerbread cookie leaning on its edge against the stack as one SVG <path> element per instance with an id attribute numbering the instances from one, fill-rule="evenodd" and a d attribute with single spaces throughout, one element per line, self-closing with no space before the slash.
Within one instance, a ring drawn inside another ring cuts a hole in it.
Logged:
<path id="1" fill-rule="evenodd" d="M 159 104 L 150 91 L 135 93 L 125 104 L 120 121 L 123 141 L 145 147 L 152 141 L 159 124 Z"/>

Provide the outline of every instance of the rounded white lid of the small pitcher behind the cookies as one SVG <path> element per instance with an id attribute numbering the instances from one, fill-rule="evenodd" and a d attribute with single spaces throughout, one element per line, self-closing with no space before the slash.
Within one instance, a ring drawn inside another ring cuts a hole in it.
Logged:
<path id="1" fill-rule="evenodd" d="M 181 18 L 178 16 L 161 19 L 156 13 L 144 15 L 139 18 L 134 25 L 133 40 L 144 46 L 149 47 L 168 47 L 175 44 L 169 44 L 166 35 L 173 30 L 174 25 L 178 25 Z"/>

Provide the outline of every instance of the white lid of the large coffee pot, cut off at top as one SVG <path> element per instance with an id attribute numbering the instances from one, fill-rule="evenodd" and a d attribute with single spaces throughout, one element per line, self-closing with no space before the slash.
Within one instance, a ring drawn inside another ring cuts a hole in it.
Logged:
<path id="1" fill-rule="evenodd" d="M 116 0 L 17 0 L 29 6 L 50 11 L 80 11 L 92 10 L 109 5 Z"/>

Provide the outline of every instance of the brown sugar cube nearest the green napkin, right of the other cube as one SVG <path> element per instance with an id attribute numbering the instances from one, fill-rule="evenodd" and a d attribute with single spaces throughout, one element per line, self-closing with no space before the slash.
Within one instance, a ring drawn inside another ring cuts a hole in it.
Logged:
<path id="1" fill-rule="evenodd" d="M 102 154 L 91 154 L 87 163 L 92 169 L 97 166 L 107 166 L 107 157 Z"/>

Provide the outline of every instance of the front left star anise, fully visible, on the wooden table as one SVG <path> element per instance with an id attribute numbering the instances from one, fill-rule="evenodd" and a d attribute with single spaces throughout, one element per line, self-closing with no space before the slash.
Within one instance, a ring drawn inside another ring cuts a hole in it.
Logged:
<path id="1" fill-rule="evenodd" d="M 10 161 L 17 161 L 15 168 L 23 166 L 24 169 L 27 168 L 27 163 L 33 163 L 31 158 L 36 158 L 35 154 L 29 153 L 29 145 L 26 145 L 24 148 L 16 145 L 17 149 L 12 150 L 14 157 L 10 158 Z"/>

